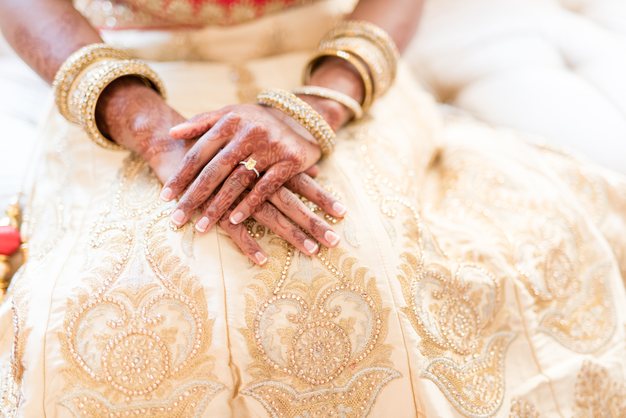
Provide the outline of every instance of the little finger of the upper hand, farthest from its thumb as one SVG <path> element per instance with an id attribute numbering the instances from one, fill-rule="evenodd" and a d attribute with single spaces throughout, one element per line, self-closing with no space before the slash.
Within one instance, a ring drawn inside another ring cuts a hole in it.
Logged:
<path id="1" fill-rule="evenodd" d="M 230 221 L 233 224 L 239 224 L 245 218 L 249 217 L 252 212 L 267 200 L 270 194 L 278 190 L 282 184 L 293 175 L 293 164 L 279 163 L 272 165 L 267 172 L 257 181 L 252 191 L 241 201 L 235 209 L 233 209 Z"/>

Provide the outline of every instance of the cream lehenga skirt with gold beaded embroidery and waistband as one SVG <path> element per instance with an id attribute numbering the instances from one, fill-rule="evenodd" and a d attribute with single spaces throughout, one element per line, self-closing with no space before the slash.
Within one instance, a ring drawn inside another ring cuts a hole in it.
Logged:
<path id="1" fill-rule="evenodd" d="M 308 55 L 294 50 L 315 46 L 338 3 L 224 36 L 221 63 L 154 63 L 171 105 L 191 116 L 299 85 Z M 285 46 L 300 29 L 312 39 Z M 137 56 L 180 54 L 181 34 L 127 35 Z M 204 38 L 184 36 L 198 54 Z M 251 55 L 250 39 L 284 53 Z M 623 414 L 626 179 L 444 119 L 402 65 L 338 135 L 317 180 L 349 209 L 326 216 L 340 246 L 306 256 L 249 222 L 269 255 L 259 268 L 220 227 L 173 227 L 140 157 L 99 149 L 51 108 L 28 263 L 0 306 L 3 416 Z"/>

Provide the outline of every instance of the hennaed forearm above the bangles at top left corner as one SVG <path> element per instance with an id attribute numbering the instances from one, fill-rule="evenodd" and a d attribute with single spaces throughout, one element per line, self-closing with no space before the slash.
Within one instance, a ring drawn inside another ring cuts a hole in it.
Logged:
<path id="1" fill-rule="evenodd" d="M 102 42 L 69 0 L 0 0 L 0 29 L 13 50 L 48 83 L 74 51 Z"/>

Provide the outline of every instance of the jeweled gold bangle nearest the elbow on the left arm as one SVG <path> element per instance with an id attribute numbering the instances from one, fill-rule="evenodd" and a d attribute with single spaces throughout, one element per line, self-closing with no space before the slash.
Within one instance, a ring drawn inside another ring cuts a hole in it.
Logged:
<path id="1" fill-rule="evenodd" d="M 94 61 L 107 58 L 129 60 L 130 55 L 125 51 L 103 43 L 90 44 L 83 46 L 83 48 L 80 48 L 80 50 L 70 55 L 56 72 L 52 83 L 54 102 L 56 102 L 59 113 L 69 120 L 69 122 L 79 123 L 78 120 L 73 119 L 68 112 L 68 94 L 72 83 L 88 65 L 91 65 Z"/>

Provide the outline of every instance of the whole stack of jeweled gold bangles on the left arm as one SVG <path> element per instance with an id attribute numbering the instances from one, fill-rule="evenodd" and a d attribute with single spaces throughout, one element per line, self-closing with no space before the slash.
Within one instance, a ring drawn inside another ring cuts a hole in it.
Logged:
<path id="1" fill-rule="evenodd" d="M 122 145 L 100 133 L 95 110 L 106 86 L 128 75 L 139 77 L 165 98 L 163 83 L 145 63 L 131 60 L 125 51 L 106 44 L 84 46 L 70 55 L 54 76 L 54 100 L 59 113 L 69 122 L 80 125 L 100 147 L 123 150 Z"/>

